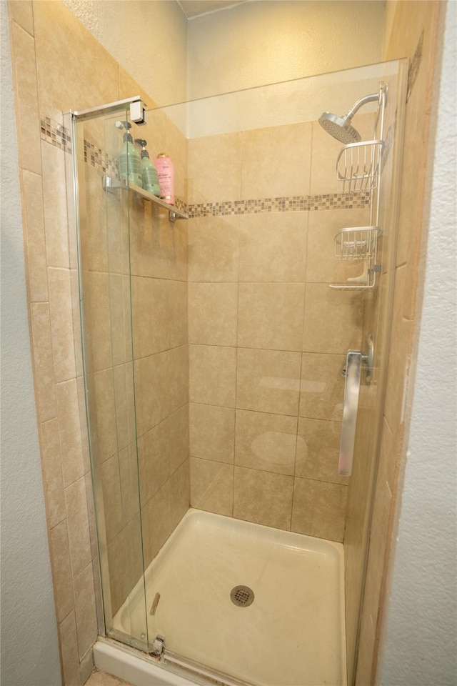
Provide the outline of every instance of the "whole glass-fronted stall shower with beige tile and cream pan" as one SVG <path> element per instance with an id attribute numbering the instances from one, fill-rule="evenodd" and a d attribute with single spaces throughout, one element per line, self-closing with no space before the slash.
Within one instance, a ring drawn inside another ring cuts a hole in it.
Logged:
<path id="1" fill-rule="evenodd" d="M 353 683 L 404 84 L 394 61 L 67 115 L 102 620 L 153 670 Z M 119 120 L 175 204 L 121 179 Z"/>

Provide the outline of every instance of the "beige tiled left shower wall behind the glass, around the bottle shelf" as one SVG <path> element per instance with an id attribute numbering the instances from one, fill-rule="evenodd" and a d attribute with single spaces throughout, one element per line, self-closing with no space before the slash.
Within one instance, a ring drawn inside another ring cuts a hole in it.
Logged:
<path id="1" fill-rule="evenodd" d="M 89 421 L 111 615 L 189 507 L 186 224 L 171 225 L 144 199 L 101 192 L 103 170 L 84 161 L 83 141 L 116 158 L 119 118 L 81 123 L 78 134 Z M 176 152 L 184 189 L 187 141 L 157 113 L 151 119 L 131 134 L 146 139 L 153 158 Z M 135 637 L 145 630 L 136 627 Z"/>

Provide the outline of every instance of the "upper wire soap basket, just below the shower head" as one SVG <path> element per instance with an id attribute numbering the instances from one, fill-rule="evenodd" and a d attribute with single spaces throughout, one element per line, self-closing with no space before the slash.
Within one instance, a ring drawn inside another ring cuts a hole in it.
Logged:
<path id="1" fill-rule="evenodd" d="M 371 191 L 378 186 L 384 141 L 345 145 L 336 160 L 338 190 L 345 193 Z"/>

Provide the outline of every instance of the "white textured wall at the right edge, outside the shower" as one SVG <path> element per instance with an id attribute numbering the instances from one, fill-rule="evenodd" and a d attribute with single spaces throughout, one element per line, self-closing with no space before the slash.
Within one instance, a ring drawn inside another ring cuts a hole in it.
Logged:
<path id="1" fill-rule="evenodd" d="M 386 686 L 451 686 L 457 675 L 457 270 L 455 253 L 443 250 L 456 227 L 453 2 L 447 4 L 443 46 L 418 371 L 381 664 Z"/>

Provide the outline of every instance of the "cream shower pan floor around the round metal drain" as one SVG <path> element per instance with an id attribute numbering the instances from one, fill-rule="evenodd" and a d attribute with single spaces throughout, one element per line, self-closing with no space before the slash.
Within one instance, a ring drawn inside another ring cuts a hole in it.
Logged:
<path id="1" fill-rule="evenodd" d="M 132 607 L 144 617 L 140 589 L 119 630 Z M 254 686 L 346 684 L 341 544 L 191 509 L 147 570 L 146 595 L 150 643 L 161 635 Z"/>

